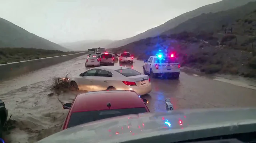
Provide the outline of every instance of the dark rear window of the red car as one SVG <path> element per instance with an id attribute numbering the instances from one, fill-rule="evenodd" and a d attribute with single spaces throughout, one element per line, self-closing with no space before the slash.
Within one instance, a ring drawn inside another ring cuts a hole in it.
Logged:
<path id="1" fill-rule="evenodd" d="M 68 128 L 101 119 L 148 112 L 146 108 L 127 108 L 100 111 L 75 112 L 70 116 Z"/>

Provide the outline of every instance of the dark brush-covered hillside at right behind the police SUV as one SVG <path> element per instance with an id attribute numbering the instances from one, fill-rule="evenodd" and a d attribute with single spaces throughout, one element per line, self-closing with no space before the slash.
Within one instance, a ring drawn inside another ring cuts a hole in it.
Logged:
<path id="1" fill-rule="evenodd" d="M 204 20 L 200 23 L 199 19 Z M 142 39 L 110 50 L 115 53 L 129 51 L 138 59 L 147 59 L 159 50 L 174 52 L 182 67 L 207 74 L 256 78 L 256 2 L 234 10 L 200 15 L 180 25 L 166 32 L 168 35 Z M 232 27 L 233 33 L 225 34 L 225 25 Z"/>

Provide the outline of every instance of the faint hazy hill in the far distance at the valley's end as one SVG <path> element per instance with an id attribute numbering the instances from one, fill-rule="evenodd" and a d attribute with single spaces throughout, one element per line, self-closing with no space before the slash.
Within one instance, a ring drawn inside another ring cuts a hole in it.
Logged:
<path id="1" fill-rule="evenodd" d="M 84 51 L 88 50 L 88 48 L 105 47 L 112 42 L 112 40 L 85 40 L 78 42 L 62 43 L 59 45 L 69 48 L 73 51 Z"/>

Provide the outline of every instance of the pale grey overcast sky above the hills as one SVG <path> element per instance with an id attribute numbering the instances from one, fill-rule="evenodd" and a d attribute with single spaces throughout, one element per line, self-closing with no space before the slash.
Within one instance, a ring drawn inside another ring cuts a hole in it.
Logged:
<path id="1" fill-rule="evenodd" d="M 52 42 L 121 40 L 221 0 L 0 0 L 0 17 Z"/>

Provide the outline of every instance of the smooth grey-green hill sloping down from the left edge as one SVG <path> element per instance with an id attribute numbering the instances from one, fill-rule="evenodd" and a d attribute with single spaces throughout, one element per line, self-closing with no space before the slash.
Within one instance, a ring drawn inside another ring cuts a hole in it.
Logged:
<path id="1" fill-rule="evenodd" d="M 70 51 L 58 44 L 32 34 L 17 25 L 0 18 L 0 48 L 25 47 L 45 50 Z"/>

